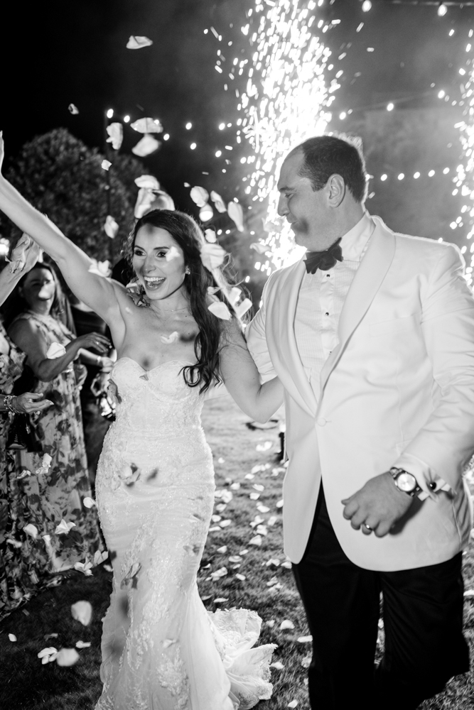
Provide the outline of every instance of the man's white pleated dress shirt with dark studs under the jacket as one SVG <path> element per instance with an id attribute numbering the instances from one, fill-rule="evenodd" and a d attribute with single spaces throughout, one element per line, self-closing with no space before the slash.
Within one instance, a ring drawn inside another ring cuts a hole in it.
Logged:
<path id="1" fill-rule="evenodd" d="M 328 271 L 306 273 L 296 305 L 294 331 L 296 345 L 316 400 L 320 395 L 321 370 L 338 344 L 338 325 L 345 297 L 367 250 L 375 222 L 365 212 L 362 219 L 343 236 L 343 261 Z"/>

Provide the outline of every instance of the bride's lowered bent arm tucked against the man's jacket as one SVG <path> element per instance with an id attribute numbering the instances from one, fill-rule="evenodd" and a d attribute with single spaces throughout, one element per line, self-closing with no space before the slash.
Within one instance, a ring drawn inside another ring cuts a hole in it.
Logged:
<path id="1" fill-rule="evenodd" d="M 278 377 L 260 384 L 259 371 L 235 319 L 225 329 L 220 373 L 241 410 L 257 422 L 269 420 L 283 403 L 283 385 Z"/>

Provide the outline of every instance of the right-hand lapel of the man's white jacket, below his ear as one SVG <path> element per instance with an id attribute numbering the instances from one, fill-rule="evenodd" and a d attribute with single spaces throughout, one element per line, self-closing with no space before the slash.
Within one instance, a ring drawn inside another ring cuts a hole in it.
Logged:
<path id="1" fill-rule="evenodd" d="M 395 236 L 387 229 L 382 219 L 375 220 L 375 230 L 370 239 L 367 253 L 362 258 L 354 280 L 350 285 L 345 298 L 343 310 L 340 314 L 338 337 L 339 344 L 325 361 L 321 370 L 321 392 L 325 387 L 330 373 L 343 354 L 346 344 L 358 324 L 365 316 L 375 294 L 382 285 L 387 271 L 394 258 Z"/>

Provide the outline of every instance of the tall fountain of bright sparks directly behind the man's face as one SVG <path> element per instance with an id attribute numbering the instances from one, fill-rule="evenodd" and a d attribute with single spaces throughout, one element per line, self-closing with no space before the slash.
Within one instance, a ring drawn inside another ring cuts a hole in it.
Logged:
<path id="1" fill-rule="evenodd" d="M 338 88 L 337 83 L 329 89 L 325 84 L 330 50 L 318 32 L 311 31 L 317 12 L 314 0 L 255 0 L 254 11 L 247 14 L 249 23 L 242 27 L 249 37 L 252 62 L 237 60 L 234 67 L 247 70 L 248 76 L 237 106 L 245 116 L 242 133 L 254 151 L 247 158 L 252 173 L 245 192 L 253 195 L 253 201 L 268 199 L 269 219 L 275 224 L 281 224 L 276 181 L 282 159 L 298 143 L 325 131 L 333 91 Z M 269 231 L 265 243 L 273 268 L 301 256 L 288 225 Z"/>

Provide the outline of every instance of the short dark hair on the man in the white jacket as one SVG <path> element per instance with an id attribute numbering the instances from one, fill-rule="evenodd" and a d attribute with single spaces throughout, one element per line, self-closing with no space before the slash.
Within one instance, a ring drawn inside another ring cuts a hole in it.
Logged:
<path id="1" fill-rule="evenodd" d="M 293 148 L 289 155 L 298 152 L 304 156 L 299 174 L 311 181 L 313 190 L 321 190 L 336 174 L 343 178 L 356 202 L 365 201 L 367 178 L 360 138 L 315 136 Z"/>

